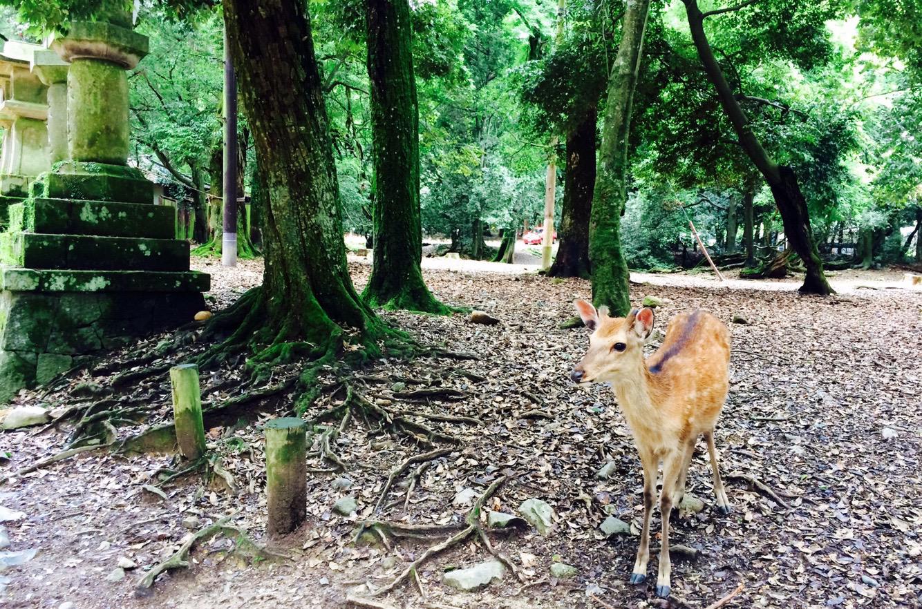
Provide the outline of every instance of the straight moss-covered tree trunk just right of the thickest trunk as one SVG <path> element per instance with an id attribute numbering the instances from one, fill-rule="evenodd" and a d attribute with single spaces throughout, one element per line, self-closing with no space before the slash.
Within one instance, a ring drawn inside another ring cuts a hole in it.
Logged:
<path id="1" fill-rule="evenodd" d="M 446 313 L 422 279 L 420 119 L 408 0 L 367 0 L 374 167 L 372 307 Z"/>

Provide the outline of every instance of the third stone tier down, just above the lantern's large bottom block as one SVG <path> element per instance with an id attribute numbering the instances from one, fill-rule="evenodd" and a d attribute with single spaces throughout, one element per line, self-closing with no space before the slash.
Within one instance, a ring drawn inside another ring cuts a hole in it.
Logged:
<path id="1" fill-rule="evenodd" d="M 176 239 L 51 235 L 0 235 L 0 260 L 32 269 L 188 271 L 189 244 Z"/>

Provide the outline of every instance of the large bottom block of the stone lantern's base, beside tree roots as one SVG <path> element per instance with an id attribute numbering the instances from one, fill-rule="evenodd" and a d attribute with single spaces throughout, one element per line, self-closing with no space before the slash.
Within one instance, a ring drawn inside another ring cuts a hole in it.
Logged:
<path id="1" fill-rule="evenodd" d="M 205 299 L 195 291 L 4 290 L 0 293 L 0 402 L 9 401 L 20 389 L 51 381 L 80 357 L 190 322 L 204 307 Z"/>

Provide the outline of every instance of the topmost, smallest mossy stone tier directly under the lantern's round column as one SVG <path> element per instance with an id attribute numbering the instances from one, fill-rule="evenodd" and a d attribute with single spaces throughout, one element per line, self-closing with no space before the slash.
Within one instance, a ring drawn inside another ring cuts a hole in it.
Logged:
<path id="1" fill-rule="evenodd" d="M 64 161 L 32 182 L 36 199 L 76 199 L 119 203 L 154 202 L 154 184 L 133 167 Z"/>

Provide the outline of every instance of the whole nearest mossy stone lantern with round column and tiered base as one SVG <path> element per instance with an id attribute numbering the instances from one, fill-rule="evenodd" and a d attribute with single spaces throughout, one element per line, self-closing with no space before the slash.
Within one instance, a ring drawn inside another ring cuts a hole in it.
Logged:
<path id="1" fill-rule="evenodd" d="M 125 70 L 148 39 L 124 15 L 65 31 L 50 47 L 69 64 L 66 76 L 48 54 L 33 61 L 32 78 L 48 88 L 44 168 L 53 166 L 10 205 L 0 234 L 0 402 L 86 357 L 191 322 L 210 285 L 189 270 L 188 242 L 174 239 L 175 209 L 154 205 L 153 183 L 127 165 Z"/>

